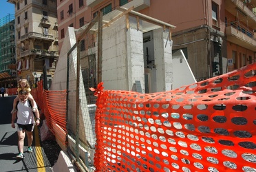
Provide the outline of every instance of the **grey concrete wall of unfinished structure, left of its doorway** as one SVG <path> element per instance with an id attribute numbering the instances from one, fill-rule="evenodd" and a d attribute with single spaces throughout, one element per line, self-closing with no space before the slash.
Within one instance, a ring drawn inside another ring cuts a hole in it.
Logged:
<path id="1" fill-rule="evenodd" d="M 130 25 L 136 19 L 130 17 Z M 141 24 L 141 23 L 140 23 Z M 144 90 L 142 32 L 126 29 L 125 17 L 103 30 L 103 83 L 105 89 L 131 90 L 140 80 Z"/>

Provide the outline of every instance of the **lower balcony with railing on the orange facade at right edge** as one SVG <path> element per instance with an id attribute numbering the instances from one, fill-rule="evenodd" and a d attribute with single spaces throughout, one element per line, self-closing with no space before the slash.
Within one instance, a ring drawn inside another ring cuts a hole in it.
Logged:
<path id="1" fill-rule="evenodd" d="M 248 50 L 255 52 L 256 39 L 253 33 L 244 28 L 235 25 L 226 27 L 227 41 L 246 47 Z"/>

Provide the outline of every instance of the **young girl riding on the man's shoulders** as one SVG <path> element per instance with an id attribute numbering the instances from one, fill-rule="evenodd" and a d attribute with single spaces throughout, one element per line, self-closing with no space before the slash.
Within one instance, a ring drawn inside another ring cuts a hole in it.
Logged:
<path id="1" fill-rule="evenodd" d="M 18 89 L 17 92 L 19 93 L 19 91 L 21 91 L 21 89 L 26 89 L 27 92 L 29 92 L 28 94 L 28 99 L 31 101 L 32 104 L 32 111 L 36 111 L 36 108 L 34 107 L 35 103 L 34 103 L 34 98 L 33 96 L 30 94 L 30 84 L 28 83 L 28 80 L 26 79 L 20 79 L 19 80 L 19 85 L 18 85 Z M 15 111 L 17 111 L 16 109 L 16 105 L 17 105 L 17 101 L 19 101 L 19 96 L 17 96 L 14 100 L 13 100 L 13 108 L 11 111 L 11 114 L 13 114 Z"/>

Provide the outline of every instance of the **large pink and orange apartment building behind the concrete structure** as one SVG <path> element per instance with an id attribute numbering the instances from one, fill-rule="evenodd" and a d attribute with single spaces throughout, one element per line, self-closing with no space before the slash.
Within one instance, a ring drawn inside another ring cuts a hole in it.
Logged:
<path id="1" fill-rule="evenodd" d="M 197 80 L 255 62 L 255 0 L 58 0 L 61 48 L 68 26 L 75 29 L 101 11 L 120 6 L 175 25 L 173 52 L 182 50 Z M 150 51 L 148 51 L 150 52 Z M 145 58 L 147 58 L 145 52 Z"/>

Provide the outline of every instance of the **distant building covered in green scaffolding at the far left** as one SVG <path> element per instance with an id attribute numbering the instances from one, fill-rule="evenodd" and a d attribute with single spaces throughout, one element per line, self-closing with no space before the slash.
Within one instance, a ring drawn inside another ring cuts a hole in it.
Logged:
<path id="1" fill-rule="evenodd" d="M 0 19 L 0 83 L 1 87 L 16 87 L 14 14 Z"/>

